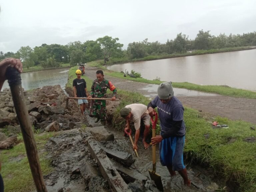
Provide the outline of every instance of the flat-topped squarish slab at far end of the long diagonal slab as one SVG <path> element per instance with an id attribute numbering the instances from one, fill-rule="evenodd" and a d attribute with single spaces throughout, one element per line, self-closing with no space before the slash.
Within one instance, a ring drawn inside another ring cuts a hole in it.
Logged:
<path id="1" fill-rule="evenodd" d="M 91 132 L 97 141 L 114 141 L 114 134 L 108 132 L 105 126 L 91 127 L 88 128 L 88 131 Z"/>

